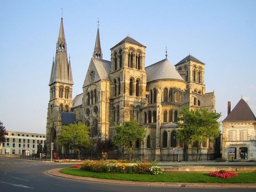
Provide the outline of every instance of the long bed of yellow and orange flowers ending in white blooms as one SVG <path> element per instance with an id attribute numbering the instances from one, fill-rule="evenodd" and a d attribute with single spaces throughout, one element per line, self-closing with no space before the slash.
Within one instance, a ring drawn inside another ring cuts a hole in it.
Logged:
<path id="1" fill-rule="evenodd" d="M 83 162 L 82 170 L 101 173 L 130 173 L 130 174 L 159 174 L 162 169 L 150 163 L 119 163 L 118 161 L 90 161 Z"/>

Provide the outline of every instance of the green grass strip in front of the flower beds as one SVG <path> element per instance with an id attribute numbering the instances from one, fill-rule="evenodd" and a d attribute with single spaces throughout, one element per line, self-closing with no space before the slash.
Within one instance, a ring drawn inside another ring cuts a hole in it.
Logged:
<path id="1" fill-rule="evenodd" d="M 91 177 L 98 179 L 115 179 L 127 181 L 148 182 L 195 182 L 195 183 L 256 183 L 256 172 L 238 173 L 238 177 L 221 179 L 210 177 L 209 173 L 162 173 L 159 175 L 148 174 L 121 174 L 121 173 L 95 173 L 77 168 L 67 167 L 61 173 Z"/>

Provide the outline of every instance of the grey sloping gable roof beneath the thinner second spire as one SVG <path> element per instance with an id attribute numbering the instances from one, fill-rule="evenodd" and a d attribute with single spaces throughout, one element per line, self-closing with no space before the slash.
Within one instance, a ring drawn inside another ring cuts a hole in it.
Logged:
<path id="1" fill-rule="evenodd" d="M 92 58 L 94 65 L 98 71 L 100 79 L 102 80 L 109 80 L 108 75 L 110 74 L 111 70 L 111 61 Z"/>

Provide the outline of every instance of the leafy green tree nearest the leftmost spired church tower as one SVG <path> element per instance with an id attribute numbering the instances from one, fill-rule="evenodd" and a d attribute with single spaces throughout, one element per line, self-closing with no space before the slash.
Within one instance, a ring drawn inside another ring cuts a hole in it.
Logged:
<path id="1" fill-rule="evenodd" d="M 63 125 L 57 142 L 68 149 L 77 150 L 78 158 L 81 159 L 81 149 L 91 147 L 92 141 L 89 139 L 89 129 L 89 126 L 81 122 Z"/>

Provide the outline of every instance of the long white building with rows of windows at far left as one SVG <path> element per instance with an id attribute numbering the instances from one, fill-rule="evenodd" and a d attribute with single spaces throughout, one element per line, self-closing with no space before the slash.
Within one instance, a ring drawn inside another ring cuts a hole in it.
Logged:
<path id="1" fill-rule="evenodd" d="M 32 155 L 37 145 L 44 147 L 46 134 L 7 131 L 6 142 L 1 143 L 0 154 Z"/>

